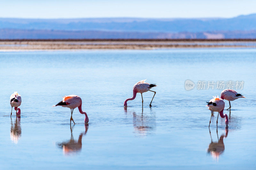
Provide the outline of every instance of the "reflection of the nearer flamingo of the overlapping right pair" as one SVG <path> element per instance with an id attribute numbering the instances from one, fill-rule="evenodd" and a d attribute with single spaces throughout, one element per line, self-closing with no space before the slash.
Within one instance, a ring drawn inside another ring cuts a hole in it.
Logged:
<path id="1" fill-rule="evenodd" d="M 226 134 L 221 135 L 220 139 L 218 136 L 218 129 L 217 129 L 218 142 L 212 142 L 212 135 L 211 135 L 210 129 L 209 129 L 209 132 L 210 132 L 210 136 L 211 136 L 211 143 L 209 144 L 209 147 L 208 147 L 208 153 L 210 153 L 214 159 L 219 159 L 219 156 L 225 150 L 223 139 L 228 137 L 228 127 L 226 127 L 226 129 L 225 129 Z"/>

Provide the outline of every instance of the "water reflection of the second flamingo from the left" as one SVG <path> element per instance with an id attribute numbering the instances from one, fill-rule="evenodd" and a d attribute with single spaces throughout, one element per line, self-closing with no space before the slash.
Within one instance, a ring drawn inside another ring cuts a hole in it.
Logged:
<path id="1" fill-rule="evenodd" d="M 75 153 L 81 151 L 82 137 L 87 133 L 89 125 L 84 124 L 85 131 L 80 133 L 80 135 L 78 137 L 78 141 L 76 141 L 73 137 L 73 134 L 72 134 L 73 127 L 71 127 L 71 125 L 70 125 L 70 131 L 71 131 L 70 140 L 68 140 L 67 142 L 62 142 L 62 143 L 57 144 L 60 148 L 62 148 L 64 155 L 72 155 L 72 154 L 75 154 Z"/>

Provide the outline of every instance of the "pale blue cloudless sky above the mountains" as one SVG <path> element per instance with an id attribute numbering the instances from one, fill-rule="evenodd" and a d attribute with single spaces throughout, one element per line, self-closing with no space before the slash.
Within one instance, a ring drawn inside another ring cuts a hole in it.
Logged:
<path id="1" fill-rule="evenodd" d="M 0 18 L 231 18 L 255 7 L 255 0 L 1 0 Z"/>

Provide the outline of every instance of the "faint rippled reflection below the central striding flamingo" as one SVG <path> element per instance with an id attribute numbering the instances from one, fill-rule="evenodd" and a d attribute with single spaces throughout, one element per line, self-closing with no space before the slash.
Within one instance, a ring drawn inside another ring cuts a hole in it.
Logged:
<path id="1" fill-rule="evenodd" d="M 127 108 L 124 107 L 124 112 L 127 113 Z M 156 117 L 155 115 L 144 116 L 143 108 L 142 112 L 137 114 L 136 112 L 130 112 L 133 116 L 133 128 L 134 132 L 139 134 L 140 137 L 147 136 L 150 132 L 156 128 Z"/>

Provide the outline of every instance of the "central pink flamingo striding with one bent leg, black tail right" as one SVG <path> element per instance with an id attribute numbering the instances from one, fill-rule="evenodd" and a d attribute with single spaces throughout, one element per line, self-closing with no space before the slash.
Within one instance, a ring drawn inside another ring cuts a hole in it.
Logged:
<path id="1" fill-rule="evenodd" d="M 146 79 L 146 80 L 147 80 L 147 79 Z M 137 82 L 136 84 L 134 84 L 134 86 L 133 86 L 133 96 L 132 96 L 132 98 L 128 98 L 128 99 L 126 99 L 126 100 L 124 101 L 124 107 L 127 107 L 127 101 L 129 101 L 129 100 L 134 100 L 134 99 L 135 99 L 137 93 L 140 93 L 140 94 L 141 94 L 142 106 L 143 106 L 143 97 L 142 97 L 142 93 L 147 92 L 147 91 L 152 91 L 152 90 L 150 90 L 150 89 L 151 89 L 152 87 L 157 86 L 156 84 L 149 84 L 149 83 L 146 83 L 146 82 L 145 82 L 146 80 L 141 80 L 141 81 Z M 155 92 L 155 91 L 152 91 L 152 92 L 155 93 L 155 94 L 154 94 L 154 96 L 155 96 L 155 95 L 156 95 L 156 92 Z M 154 96 L 153 96 L 153 98 L 154 98 Z M 152 103 L 152 101 L 153 101 L 153 98 L 152 98 L 152 100 L 151 100 L 151 102 L 150 102 L 150 104 L 149 104 L 150 107 L 151 107 L 151 103 Z"/>

